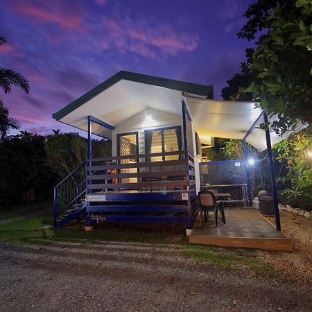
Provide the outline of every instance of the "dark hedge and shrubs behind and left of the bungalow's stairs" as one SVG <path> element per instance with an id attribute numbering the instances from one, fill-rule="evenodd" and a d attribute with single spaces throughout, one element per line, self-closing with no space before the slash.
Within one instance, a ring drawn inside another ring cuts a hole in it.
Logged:
<path id="1" fill-rule="evenodd" d="M 52 198 L 53 187 L 86 159 L 87 139 L 77 133 L 44 137 L 21 131 L 0 143 L 0 208 Z M 111 155 L 110 141 L 92 140 L 94 157 Z"/>

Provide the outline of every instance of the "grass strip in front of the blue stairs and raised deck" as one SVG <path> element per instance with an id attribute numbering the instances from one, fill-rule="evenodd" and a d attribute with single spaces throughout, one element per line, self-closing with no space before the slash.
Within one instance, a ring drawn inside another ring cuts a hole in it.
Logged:
<path id="1" fill-rule="evenodd" d="M 96 241 L 164 242 L 164 234 L 128 231 L 102 227 L 92 232 L 81 230 L 78 225 L 54 229 L 51 214 L 17 220 L 0 225 L 0 241 L 3 243 L 54 243 Z"/>

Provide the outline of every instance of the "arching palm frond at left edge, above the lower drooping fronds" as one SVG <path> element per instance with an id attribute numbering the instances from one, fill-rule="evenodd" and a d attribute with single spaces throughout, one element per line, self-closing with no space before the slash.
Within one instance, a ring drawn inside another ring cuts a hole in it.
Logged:
<path id="1" fill-rule="evenodd" d="M 23 75 L 13 69 L 0 67 L 0 87 L 3 89 L 3 92 L 10 93 L 12 85 L 16 85 L 26 93 L 29 93 L 29 83 Z"/>

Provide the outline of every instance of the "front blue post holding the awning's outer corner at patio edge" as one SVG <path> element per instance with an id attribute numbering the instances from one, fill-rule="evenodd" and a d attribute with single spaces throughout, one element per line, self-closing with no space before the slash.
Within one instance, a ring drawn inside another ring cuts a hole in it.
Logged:
<path id="1" fill-rule="evenodd" d="M 263 114 L 264 123 L 268 123 L 268 114 Z M 266 148 L 268 150 L 268 162 L 269 162 L 269 168 L 270 168 L 270 177 L 271 177 L 271 184 L 272 184 L 272 196 L 273 196 L 273 202 L 274 202 L 274 211 L 275 211 L 275 226 L 277 231 L 281 230 L 281 221 L 279 219 L 279 202 L 277 199 L 277 187 L 276 187 L 276 181 L 275 181 L 275 172 L 274 172 L 274 163 L 273 163 L 273 157 L 272 157 L 272 147 L 271 147 L 271 138 L 270 138 L 270 130 L 269 128 L 266 128 Z"/>

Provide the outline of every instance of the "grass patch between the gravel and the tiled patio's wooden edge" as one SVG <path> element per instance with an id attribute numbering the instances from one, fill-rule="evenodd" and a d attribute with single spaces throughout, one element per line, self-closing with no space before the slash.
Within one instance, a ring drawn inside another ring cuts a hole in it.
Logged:
<path id="1" fill-rule="evenodd" d="M 184 257 L 208 266 L 232 270 L 239 273 L 250 272 L 256 277 L 273 277 L 281 279 L 281 274 L 270 264 L 264 263 L 257 257 L 246 257 L 236 254 L 220 254 L 212 246 L 187 245 L 182 249 Z"/>

